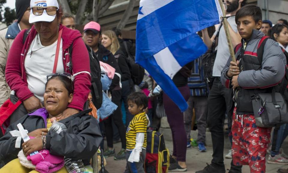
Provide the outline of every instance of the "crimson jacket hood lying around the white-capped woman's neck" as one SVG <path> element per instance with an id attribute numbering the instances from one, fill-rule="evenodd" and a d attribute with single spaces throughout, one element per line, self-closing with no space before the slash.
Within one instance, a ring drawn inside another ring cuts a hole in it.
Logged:
<path id="1" fill-rule="evenodd" d="M 60 24 L 59 30 L 61 30 L 61 29 L 63 29 L 63 32 L 62 32 L 62 48 L 63 48 L 63 50 L 67 49 L 73 43 L 74 40 L 76 40 L 79 37 L 82 37 L 81 33 L 78 30 L 72 30 L 72 29 L 69 29 L 66 26 L 63 26 Z M 30 32 L 32 35 L 37 34 L 37 31 L 36 31 L 34 25 L 32 26 Z M 34 39 L 34 37 L 32 39 Z"/>

